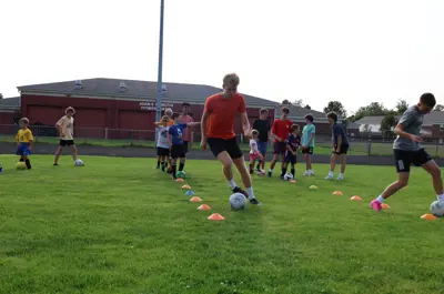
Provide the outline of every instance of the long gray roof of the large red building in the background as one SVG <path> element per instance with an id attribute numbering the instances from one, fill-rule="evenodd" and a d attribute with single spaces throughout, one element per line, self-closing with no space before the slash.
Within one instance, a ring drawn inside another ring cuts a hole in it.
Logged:
<path id="1" fill-rule="evenodd" d="M 135 81 L 124 79 L 88 79 L 81 80 L 81 89 L 75 89 L 77 81 L 65 81 L 44 84 L 32 84 L 18 87 L 21 92 L 39 92 L 39 93 L 62 93 L 78 95 L 93 95 L 93 97 L 111 97 L 120 99 L 157 99 L 158 83 L 150 81 Z M 120 90 L 121 82 L 124 83 L 127 90 Z M 186 101 L 190 103 L 203 103 L 205 99 L 214 93 L 221 92 L 221 88 L 215 88 L 204 84 L 188 84 L 188 83 L 163 83 L 167 87 L 167 92 L 163 98 L 168 101 Z M 278 102 L 246 95 L 246 104 L 254 104 L 260 107 L 274 107 Z"/>

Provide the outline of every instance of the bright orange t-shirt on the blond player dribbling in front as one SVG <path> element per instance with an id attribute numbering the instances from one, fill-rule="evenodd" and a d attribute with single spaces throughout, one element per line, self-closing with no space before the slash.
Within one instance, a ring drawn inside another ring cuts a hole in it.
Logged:
<path id="1" fill-rule="evenodd" d="M 204 111 L 210 114 L 206 136 L 228 140 L 235 136 L 235 116 L 239 113 L 245 113 L 246 105 L 243 95 L 239 93 L 230 99 L 223 99 L 222 94 L 215 94 L 206 99 Z"/>

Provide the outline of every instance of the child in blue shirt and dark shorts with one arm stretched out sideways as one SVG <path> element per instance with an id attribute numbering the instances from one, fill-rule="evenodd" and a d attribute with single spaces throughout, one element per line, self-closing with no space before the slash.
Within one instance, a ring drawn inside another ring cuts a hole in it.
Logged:
<path id="1" fill-rule="evenodd" d="M 200 122 L 189 122 L 181 123 L 182 114 L 173 113 L 172 119 L 174 121 L 173 125 L 171 125 L 168 130 L 169 133 L 169 143 L 170 143 L 170 156 L 171 156 L 171 168 L 172 168 L 172 178 L 176 179 L 176 162 L 180 159 L 179 171 L 183 171 L 183 166 L 185 165 L 185 149 L 183 145 L 183 135 L 186 126 L 199 125 Z"/>

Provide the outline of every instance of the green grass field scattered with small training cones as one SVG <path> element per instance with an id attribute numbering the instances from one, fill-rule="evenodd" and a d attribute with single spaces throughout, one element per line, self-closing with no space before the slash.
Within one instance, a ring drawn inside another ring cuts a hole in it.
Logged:
<path id="1" fill-rule="evenodd" d="M 190 161 L 200 212 L 152 159 L 82 160 L 0 156 L 0 293 L 444 293 L 443 221 L 420 219 L 435 195 L 417 169 L 382 213 L 367 203 L 393 168 L 330 182 L 326 165 L 296 184 L 255 176 L 263 205 L 233 212 L 219 164 Z"/>

